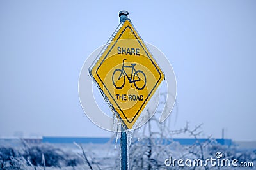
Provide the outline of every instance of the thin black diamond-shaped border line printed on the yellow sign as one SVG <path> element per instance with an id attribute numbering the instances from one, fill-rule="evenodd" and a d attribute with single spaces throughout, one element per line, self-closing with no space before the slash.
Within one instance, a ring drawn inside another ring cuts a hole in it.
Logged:
<path id="1" fill-rule="evenodd" d="M 104 62 L 104 60 L 108 57 L 109 53 L 111 52 L 111 50 L 112 50 L 112 49 L 114 48 L 114 46 L 116 45 L 118 39 L 120 39 L 120 37 L 122 36 L 122 34 L 124 33 L 124 31 L 125 31 L 127 28 L 131 29 L 132 34 L 133 34 L 134 37 L 137 39 L 138 43 L 140 43 L 140 46 L 143 48 L 143 50 L 144 50 L 145 53 L 147 54 L 148 59 L 150 59 L 150 61 L 152 62 L 152 64 L 154 65 L 154 67 L 156 68 L 156 70 L 157 70 L 157 72 L 159 73 L 159 76 L 160 76 L 159 79 L 157 80 L 156 84 L 154 85 L 153 89 L 149 92 L 149 94 L 148 94 L 148 96 L 146 97 L 145 101 L 141 104 L 140 109 L 137 111 L 137 113 L 134 115 L 134 117 L 132 118 L 131 121 L 129 121 L 129 119 L 126 117 L 126 115 L 124 114 L 124 112 L 122 111 L 122 109 L 120 108 L 120 106 L 116 103 L 115 97 L 113 97 L 112 94 L 109 92 L 108 88 L 106 87 L 106 85 L 105 85 L 104 82 L 101 80 L 101 78 L 100 78 L 100 76 L 99 76 L 99 74 L 98 74 L 99 67 L 102 65 L 102 63 Z M 111 46 L 110 50 L 108 51 L 108 53 L 106 54 L 106 56 L 104 57 L 104 59 L 102 60 L 102 62 L 100 63 L 99 67 L 97 67 L 97 70 L 96 70 L 96 74 L 97 74 L 98 78 L 100 79 L 102 85 L 104 85 L 104 87 L 108 90 L 109 95 L 112 97 L 113 101 L 115 101 L 116 106 L 118 106 L 118 108 L 120 109 L 120 111 L 122 112 L 122 114 L 124 115 L 124 117 L 126 118 L 127 122 L 129 122 L 129 123 L 131 124 L 131 123 L 133 122 L 133 120 L 137 117 L 138 113 L 140 112 L 142 106 L 143 106 L 143 105 L 145 104 L 145 102 L 147 101 L 148 97 L 152 94 L 153 90 L 156 88 L 157 83 L 159 83 L 159 81 L 161 80 L 162 74 L 160 73 L 160 71 L 159 71 L 159 69 L 157 68 L 156 64 L 155 64 L 155 63 L 153 62 L 153 60 L 151 59 L 150 55 L 148 55 L 148 53 L 147 53 L 147 51 L 145 50 L 145 48 L 143 47 L 143 45 L 141 45 L 140 40 L 138 39 L 138 37 L 136 36 L 136 34 L 134 33 L 134 31 L 132 30 L 132 28 L 131 28 L 129 25 L 127 25 L 127 26 L 124 28 L 124 30 L 121 32 L 121 34 L 118 36 L 118 38 L 116 39 L 115 43 Z M 103 89 L 102 89 L 102 92 L 103 92 Z M 111 102 L 109 101 L 109 103 L 111 103 Z M 112 107 L 115 109 L 115 107 L 114 107 L 113 105 L 112 105 Z M 116 109 L 115 109 L 115 111 L 116 111 Z M 118 112 L 116 111 L 116 113 L 118 113 Z"/>

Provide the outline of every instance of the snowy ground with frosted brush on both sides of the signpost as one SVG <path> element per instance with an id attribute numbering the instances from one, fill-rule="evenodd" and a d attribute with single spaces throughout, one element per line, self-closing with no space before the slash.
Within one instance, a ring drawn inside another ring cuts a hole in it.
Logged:
<path id="1" fill-rule="evenodd" d="M 113 139 L 115 141 L 115 139 Z M 164 144 L 150 138 L 134 138 L 130 150 L 130 169 L 193 169 L 188 166 L 166 165 L 166 159 L 237 159 L 253 162 L 253 167 L 207 166 L 208 169 L 255 169 L 256 148 L 201 143 L 191 146 L 177 142 Z M 167 162 L 168 163 L 168 162 Z M 105 144 L 29 144 L 24 141 L 0 143 L 0 169 L 120 169 L 120 145 Z M 196 169 L 205 169 L 198 166 Z"/>

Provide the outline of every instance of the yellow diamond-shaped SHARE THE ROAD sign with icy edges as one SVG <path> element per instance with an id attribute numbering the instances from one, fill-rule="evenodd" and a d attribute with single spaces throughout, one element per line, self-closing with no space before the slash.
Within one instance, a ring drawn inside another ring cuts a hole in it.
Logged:
<path id="1" fill-rule="evenodd" d="M 164 79 L 163 71 L 130 20 L 118 25 L 89 73 L 127 129 L 132 129 Z"/>

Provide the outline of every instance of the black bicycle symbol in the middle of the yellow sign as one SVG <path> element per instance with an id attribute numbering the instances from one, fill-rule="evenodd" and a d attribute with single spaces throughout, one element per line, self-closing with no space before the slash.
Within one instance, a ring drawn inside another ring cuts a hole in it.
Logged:
<path id="1" fill-rule="evenodd" d="M 125 60 L 126 59 L 123 59 L 122 68 L 115 69 L 115 71 L 113 72 L 113 75 L 112 75 L 113 85 L 116 87 L 116 89 L 122 89 L 125 85 L 125 79 L 127 78 L 129 83 L 131 84 L 131 87 L 133 83 L 136 89 L 138 90 L 144 89 L 147 81 L 145 73 L 143 73 L 143 71 L 141 71 L 140 69 L 138 70 L 135 69 L 136 63 L 131 63 L 131 66 L 125 66 L 124 64 Z M 131 76 L 127 75 L 125 68 L 131 69 Z"/>

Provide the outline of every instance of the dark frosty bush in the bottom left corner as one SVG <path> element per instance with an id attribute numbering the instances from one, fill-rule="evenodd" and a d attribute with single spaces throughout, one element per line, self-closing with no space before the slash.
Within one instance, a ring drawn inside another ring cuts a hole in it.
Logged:
<path id="1" fill-rule="evenodd" d="M 84 164 L 76 153 L 66 153 L 48 144 L 29 146 L 17 150 L 0 148 L 0 169 L 28 169 L 28 167 L 76 167 Z"/>

